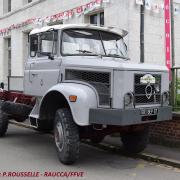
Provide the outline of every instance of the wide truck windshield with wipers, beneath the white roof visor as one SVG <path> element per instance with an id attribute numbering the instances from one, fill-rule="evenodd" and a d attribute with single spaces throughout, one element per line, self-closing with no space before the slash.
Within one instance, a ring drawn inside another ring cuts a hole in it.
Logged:
<path id="1" fill-rule="evenodd" d="M 63 55 L 127 57 L 127 47 L 119 35 L 96 30 L 71 29 L 63 32 Z"/>

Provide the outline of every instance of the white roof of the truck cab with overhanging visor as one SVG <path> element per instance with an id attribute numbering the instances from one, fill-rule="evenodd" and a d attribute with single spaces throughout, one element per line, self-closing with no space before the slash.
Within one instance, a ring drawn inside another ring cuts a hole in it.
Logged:
<path id="1" fill-rule="evenodd" d="M 90 25 L 90 24 L 60 24 L 60 25 L 45 26 L 42 28 L 33 29 L 30 32 L 30 35 L 46 32 L 46 31 L 49 31 L 51 29 L 64 30 L 64 29 L 74 29 L 74 28 L 101 30 L 101 31 L 115 33 L 115 34 L 118 34 L 122 37 L 124 37 L 128 34 L 128 32 L 126 30 L 122 30 L 122 29 L 115 28 L 115 27 L 99 27 L 99 26 Z"/>

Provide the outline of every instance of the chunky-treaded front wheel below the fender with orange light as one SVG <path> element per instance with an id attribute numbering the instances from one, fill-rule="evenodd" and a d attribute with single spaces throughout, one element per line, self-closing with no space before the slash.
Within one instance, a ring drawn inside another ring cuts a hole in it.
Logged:
<path id="1" fill-rule="evenodd" d="M 54 141 L 60 162 L 66 165 L 75 163 L 79 158 L 79 130 L 69 109 L 56 111 Z"/>

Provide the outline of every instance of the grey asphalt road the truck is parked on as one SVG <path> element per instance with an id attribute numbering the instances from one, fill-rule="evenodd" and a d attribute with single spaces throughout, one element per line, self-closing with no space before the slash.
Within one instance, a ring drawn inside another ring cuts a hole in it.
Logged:
<path id="1" fill-rule="evenodd" d="M 92 146 L 81 145 L 81 156 L 77 164 L 64 166 L 59 163 L 49 135 L 10 125 L 8 135 L 0 139 L 0 179 L 6 172 L 40 172 L 37 179 L 75 179 L 44 178 L 45 172 L 78 171 L 84 172 L 89 180 L 179 180 L 180 169 L 165 165 L 131 159 L 112 154 Z"/>

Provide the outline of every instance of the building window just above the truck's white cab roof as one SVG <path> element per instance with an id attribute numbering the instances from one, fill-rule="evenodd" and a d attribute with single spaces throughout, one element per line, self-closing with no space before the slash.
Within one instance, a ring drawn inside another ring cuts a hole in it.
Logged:
<path id="1" fill-rule="evenodd" d="M 90 24 L 104 26 L 104 12 L 90 15 Z"/>

